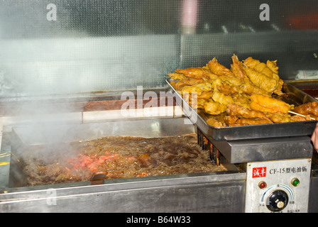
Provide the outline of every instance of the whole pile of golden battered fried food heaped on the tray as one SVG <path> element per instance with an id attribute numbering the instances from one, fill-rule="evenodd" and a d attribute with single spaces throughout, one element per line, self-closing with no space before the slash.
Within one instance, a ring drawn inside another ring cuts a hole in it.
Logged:
<path id="1" fill-rule="evenodd" d="M 177 69 L 168 74 L 177 82 L 170 82 L 193 109 L 218 115 L 209 124 L 221 126 L 245 126 L 258 123 L 283 123 L 309 121 L 309 115 L 318 119 L 318 103 L 298 106 L 295 112 L 304 116 L 293 116 L 288 112 L 293 105 L 273 94 L 283 95 L 283 79 L 278 76 L 277 60 L 265 63 L 248 57 L 239 61 L 231 57 L 231 70 L 221 65 L 216 58 L 204 67 Z M 222 114 L 224 113 L 224 114 Z"/>

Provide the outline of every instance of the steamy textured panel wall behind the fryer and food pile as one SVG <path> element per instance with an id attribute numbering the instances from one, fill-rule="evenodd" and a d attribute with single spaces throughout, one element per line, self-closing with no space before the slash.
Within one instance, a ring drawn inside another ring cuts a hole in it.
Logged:
<path id="1" fill-rule="evenodd" d="M 283 79 L 317 74 L 318 1 L 266 2 L 3 0 L 0 94 L 161 89 L 178 67 L 229 67 L 234 53 L 278 60 Z"/>

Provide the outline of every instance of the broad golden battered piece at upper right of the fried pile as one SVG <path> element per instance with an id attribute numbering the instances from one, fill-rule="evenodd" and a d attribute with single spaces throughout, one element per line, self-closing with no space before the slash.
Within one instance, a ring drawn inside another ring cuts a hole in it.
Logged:
<path id="1" fill-rule="evenodd" d="M 262 72 L 258 72 L 246 66 L 243 67 L 243 70 L 246 72 L 251 82 L 256 85 L 256 87 L 259 87 L 270 94 L 273 93 L 278 86 L 278 82 L 275 79 L 271 79 Z"/>

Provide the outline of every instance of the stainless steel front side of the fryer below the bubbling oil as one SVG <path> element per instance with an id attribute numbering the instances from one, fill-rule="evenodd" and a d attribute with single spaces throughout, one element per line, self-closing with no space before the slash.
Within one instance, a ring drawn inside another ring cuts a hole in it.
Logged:
<path id="1" fill-rule="evenodd" d="M 243 212 L 246 173 L 116 179 L 95 186 L 20 188 L 1 212 Z"/>

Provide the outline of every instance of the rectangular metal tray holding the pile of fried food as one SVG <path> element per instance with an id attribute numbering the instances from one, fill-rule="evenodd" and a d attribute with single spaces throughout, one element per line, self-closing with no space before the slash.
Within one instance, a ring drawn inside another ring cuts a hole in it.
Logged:
<path id="1" fill-rule="evenodd" d="M 170 84 L 174 79 L 166 79 L 169 90 L 175 101 L 186 116 L 190 118 L 192 123 L 197 125 L 200 131 L 207 135 L 208 138 L 213 140 L 246 140 L 246 139 L 259 139 L 259 138 L 279 138 L 289 136 L 303 136 L 312 135 L 317 121 L 297 121 L 286 123 L 269 123 L 258 124 L 249 126 L 229 126 L 229 127 L 214 127 L 209 126 L 207 120 L 209 118 L 217 118 L 220 116 L 212 116 L 204 112 L 202 109 L 192 109 L 192 107 L 182 99 L 180 93 L 178 93 Z M 175 81 L 175 80 L 174 80 Z M 287 104 L 294 104 L 299 106 L 308 102 L 317 101 L 314 97 L 309 96 L 300 89 L 292 86 L 291 84 L 284 83 L 282 91 L 285 93 L 283 96 L 277 96 L 275 98 L 285 101 Z M 224 117 L 224 116 L 223 116 Z"/>

